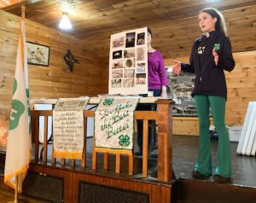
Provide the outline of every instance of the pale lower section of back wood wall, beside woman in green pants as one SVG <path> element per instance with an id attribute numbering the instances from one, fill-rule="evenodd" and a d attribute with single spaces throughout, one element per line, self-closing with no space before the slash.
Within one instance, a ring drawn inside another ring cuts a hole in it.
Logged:
<path id="1" fill-rule="evenodd" d="M 256 50 L 238 52 L 233 54 L 236 61 L 235 69 L 225 72 L 228 85 L 228 102 L 226 105 L 226 125 L 242 125 L 247 105 L 256 101 Z M 179 61 L 188 62 L 189 57 L 177 58 Z M 165 61 L 172 65 L 173 59 Z M 198 135 L 198 120 L 173 119 L 174 135 Z"/>

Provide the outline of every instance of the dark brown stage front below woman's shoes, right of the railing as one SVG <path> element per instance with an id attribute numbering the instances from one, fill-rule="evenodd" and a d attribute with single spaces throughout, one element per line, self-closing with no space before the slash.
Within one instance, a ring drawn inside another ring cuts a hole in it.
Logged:
<path id="1" fill-rule="evenodd" d="M 172 203 L 255 203 L 256 187 L 179 179 L 172 185 Z"/>

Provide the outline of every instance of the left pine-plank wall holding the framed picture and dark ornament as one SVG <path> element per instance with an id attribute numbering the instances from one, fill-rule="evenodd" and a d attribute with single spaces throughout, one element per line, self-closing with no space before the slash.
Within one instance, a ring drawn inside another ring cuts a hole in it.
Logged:
<path id="1" fill-rule="evenodd" d="M 20 18 L 0 10 L 0 147 L 5 146 L 15 75 Z M 26 41 L 49 46 L 49 67 L 28 66 L 31 99 L 96 96 L 108 92 L 108 63 L 67 34 L 26 20 Z M 73 73 L 63 60 L 67 49 L 79 60 Z M 2 137 L 2 138 L 1 138 Z"/>

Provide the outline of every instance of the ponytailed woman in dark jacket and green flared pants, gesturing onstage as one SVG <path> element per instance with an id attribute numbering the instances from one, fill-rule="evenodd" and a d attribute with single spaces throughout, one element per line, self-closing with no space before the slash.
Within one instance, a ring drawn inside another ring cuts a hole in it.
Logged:
<path id="1" fill-rule="evenodd" d="M 209 136 L 209 108 L 218 131 L 218 163 L 213 179 L 228 183 L 231 177 L 230 139 L 225 125 L 227 84 L 224 70 L 235 67 L 230 39 L 226 37 L 223 15 L 213 8 L 202 9 L 198 22 L 203 35 L 193 44 L 189 64 L 175 61 L 173 73 L 195 73 L 192 96 L 199 118 L 199 153 L 192 176 L 204 179 L 212 176 L 212 155 Z"/>

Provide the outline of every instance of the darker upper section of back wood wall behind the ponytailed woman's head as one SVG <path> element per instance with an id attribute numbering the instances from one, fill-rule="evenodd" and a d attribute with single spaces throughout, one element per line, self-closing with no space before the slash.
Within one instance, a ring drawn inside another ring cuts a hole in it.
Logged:
<path id="1" fill-rule="evenodd" d="M 188 3 L 189 6 L 190 2 Z M 233 52 L 242 52 L 256 49 L 255 3 L 256 1 L 252 6 L 223 11 L 227 22 L 227 28 L 230 41 L 232 43 Z M 151 20 L 152 18 L 149 17 L 149 19 Z M 134 24 L 131 25 L 132 26 L 129 29 L 136 27 Z M 201 31 L 197 23 L 197 12 L 193 13 L 193 15 L 190 15 L 189 17 L 187 16 L 180 19 L 170 19 L 168 16 L 166 16 L 165 19 L 157 22 L 154 20 L 144 24 L 142 22 L 140 26 L 151 27 L 153 31 L 152 45 L 155 49 L 160 49 L 165 59 L 190 55 L 193 42 L 196 38 L 201 36 Z M 118 28 L 119 29 L 116 28 L 115 32 L 122 32 L 125 29 L 127 30 L 127 27 L 124 26 L 119 26 Z M 88 36 L 84 42 L 88 49 L 93 49 L 101 53 L 101 55 L 104 57 L 108 58 L 106 53 L 109 51 L 110 35 L 114 32 L 109 31 L 109 29 L 104 31 L 104 33 L 99 32 L 99 34 L 96 33 L 93 36 Z M 93 42 L 95 40 L 101 41 L 102 43 L 94 44 Z"/>

